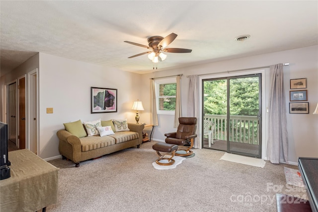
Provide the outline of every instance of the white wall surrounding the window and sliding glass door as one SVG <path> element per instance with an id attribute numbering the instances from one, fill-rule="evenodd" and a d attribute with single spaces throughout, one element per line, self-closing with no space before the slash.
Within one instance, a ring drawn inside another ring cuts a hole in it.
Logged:
<path id="1" fill-rule="evenodd" d="M 168 56 L 169 57 L 169 56 Z M 171 55 L 171 57 L 173 57 Z M 148 96 L 149 100 L 143 102 L 145 111 L 142 112 L 142 122 L 150 122 L 150 78 L 170 76 L 182 73 L 181 92 L 182 92 L 182 114 L 187 115 L 187 96 L 188 82 L 187 75 L 209 75 L 217 72 L 250 69 L 256 67 L 269 66 L 279 63 L 289 63 L 284 67 L 284 88 L 286 96 L 286 111 L 289 135 L 289 161 L 297 163 L 298 157 L 318 157 L 318 115 L 313 115 L 313 111 L 318 103 L 318 46 L 312 46 L 289 51 L 276 52 L 271 54 L 256 55 L 234 60 L 207 63 L 198 66 L 184 67 L 168 71 L 154 71 L 153 73 L 143 74 L 144 82 L 142 87 L 143 96 Z M 163 62 L 164 63 L 164 62 Z M 308 90 L 309 114 L 289 114 L 289 91 L 290 79 L 307 78 L 306 88 Z M 268 92 L 268 87 L 264 92 Z M 265 107 L 268 106 L 268 99 Z M 263 119 L 267 120 L 267 117 Z M 265 123 L 266 126 L 267 123 Z M 155 128 L 153 139 L 164 140 L 164 133 L 175 132 L 173 128 L 173 116 L 159 115 L 159 126 Z M 266 132 L 267 133 L 267 132 Z M 267 135 L 265 135 L 265 145 Z M 266 155 L 262 155 L 266 159 Z"/>

